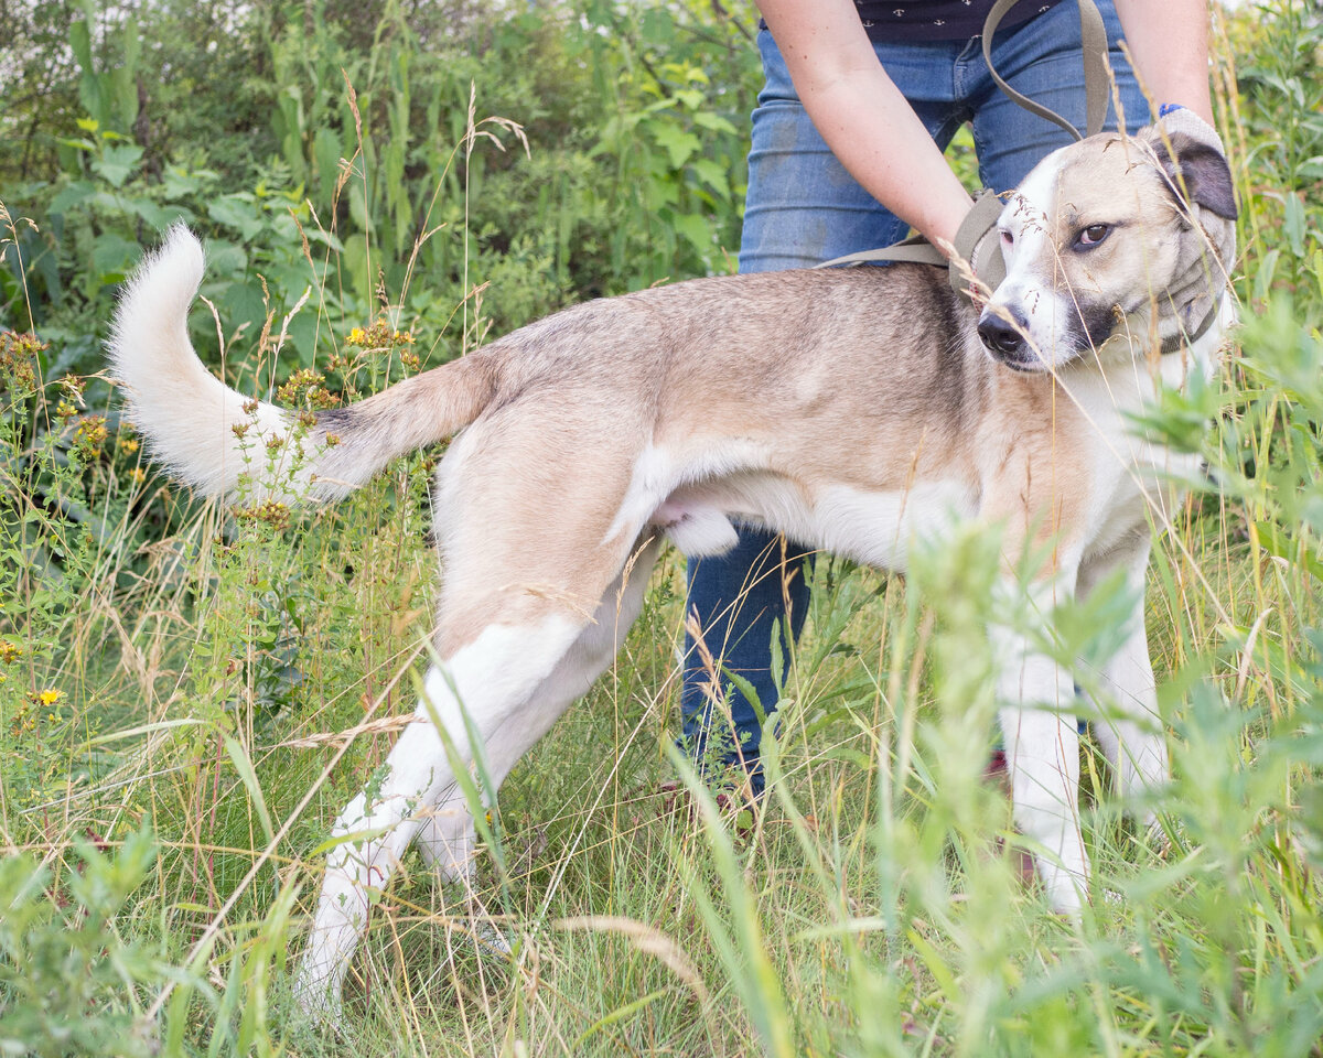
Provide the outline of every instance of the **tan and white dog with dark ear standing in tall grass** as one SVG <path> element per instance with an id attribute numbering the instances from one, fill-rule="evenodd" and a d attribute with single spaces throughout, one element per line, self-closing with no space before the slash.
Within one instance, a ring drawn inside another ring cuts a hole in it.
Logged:
<path id="1" fill-rule="evenodd" d="M 443 877 L 471 869 L 452 771 L 474 753 L 466 718 L 500 783 L 611 663 L 667 538 L 713 555 L 746 522 L 904 570 L 917 538 L 1000 524 L 1007 578 L 1021 555 L 1050 554 L 1031 587 L 1041 622 L 1121 571 L 1140 602 L 1102 673 L 1115 719 L 1097 737 L 1123 795 L 1158 788 L 1167 751 L 1144 566 L 1150 524 L 1175 503 L 1168 475 L 1196 467 L 1136 439 L 1127 414 L 1159 384 L 1216 370 L 1236 213 L 1225 159 L 1197 138 L 1093 136 L 1008 198 L 1007 275 L 982 313 L 923 264 L 595 300 L 318 413 L 306 459 L 284 443 L 266 471 L 266 446 L 249 460 L 235 427 L 287 438 L 294 417 L 198 361 L 187 313 L 204 258 L 175 227 L 127 284 L 110 343 L 130 415 L 173 475 L 214 496 L 247 477 L 250 496 L 328 501 L 458 434 L 434 492 L 441 661 L 376 792 L 335 823 L 303 1004 L 336 1009 L 368 886 L 385 885 L 410 844 Z M 1089 864 L 1073 681 L 1023 632 L 990 635 L 1013 817 L 1052 906 L 1077 914 Z"/>

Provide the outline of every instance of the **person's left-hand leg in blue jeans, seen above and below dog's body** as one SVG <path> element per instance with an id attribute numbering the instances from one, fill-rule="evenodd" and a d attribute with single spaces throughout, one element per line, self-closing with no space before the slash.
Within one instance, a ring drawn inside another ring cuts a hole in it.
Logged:
<path id="1" fill-rule="evenodd" d="M 901 239 L 908 226 L 845 172 L 818 134 L 771 34 L 762 30 L 758 45 L 766 85 L 753 115 L 740 271 L 812 267 Z M 964 118 L 946 99 L 950 77 L 945 82 L 933 78 L 933 70 L 949 65 L 951 56 L 951 45 L 878 46 L 880 61 L 943 145 Z M 808 607 L 810 569 L 800 554 L 775 536 L 742 529 L 733 551 L 691 561 L 688 567 L 687 612 L 697 618 L 712 663 L 704 663 L 693 636 L 688 636 L 681 694 L 684 747 L 704 763 L 742 766 L 755 792 L 762 787 L 758 713 L 770 714 L 778 701 L 771 637 L 782 637 L 783 656 L 789 656 Z M 714 682 L 712 665 L 747 680 L 758 709 L 726 681 Z M 724 733 L 724 747 L 709 753 L 718 731 Z"/>

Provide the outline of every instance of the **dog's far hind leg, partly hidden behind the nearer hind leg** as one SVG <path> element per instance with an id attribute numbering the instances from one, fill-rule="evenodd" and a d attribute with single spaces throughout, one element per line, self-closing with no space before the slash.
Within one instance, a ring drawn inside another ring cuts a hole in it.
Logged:
<path id="1" fill-rule="evenodd" d="M 626 633 L 643 608 L 648 574 L 660 550 L 660 537 L 640 540 L 630 561 L 602 595 L 593 623 L 579 632 L 550 676 L 516 709 L 487 746 L 491 782 L 499 787 L 511 768 L 546 733 L 576 698 L 582 697 L 611 664 Z M 418 834 L 423 860 L 445 881 L 467 877 L 474 861 L 474 819 L 468 804 L 451 787 L 442 791 Z"/>

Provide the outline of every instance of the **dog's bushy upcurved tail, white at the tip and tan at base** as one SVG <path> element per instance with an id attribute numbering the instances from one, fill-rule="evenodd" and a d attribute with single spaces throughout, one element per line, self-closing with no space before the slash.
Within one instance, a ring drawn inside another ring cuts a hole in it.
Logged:
<path id="1" fill-rule="evenodd" d="M 197 358 L 188 309 L 202 267 L 197 238 L 172 227 L 119 302 L 110 358 L 152 454 L 209 495 L 234 493 L 242 479 L 257 500 L 336 499 L 396 456 L 472 422 L 495 391 L 492 357 L 464 357 L 299 426 L 291 413 L 230 389 Z"/>

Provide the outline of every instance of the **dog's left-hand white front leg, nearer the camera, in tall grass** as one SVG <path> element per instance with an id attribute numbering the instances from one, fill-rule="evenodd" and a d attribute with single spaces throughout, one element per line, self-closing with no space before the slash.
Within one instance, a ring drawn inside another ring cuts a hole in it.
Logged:
<path id="1" fill-rule="evenodd" d="M 1045 618 L 1050 603 L 1045 598 L 1032 608 Z M 1015 824 L 1037 845 L 1035 864 L 1052 906 L 1074 915 L 1088 893 L 1089 874 L 1080 832 L 1074 682 L 1021 631 L 994 628 L 992 645 Z"/>

